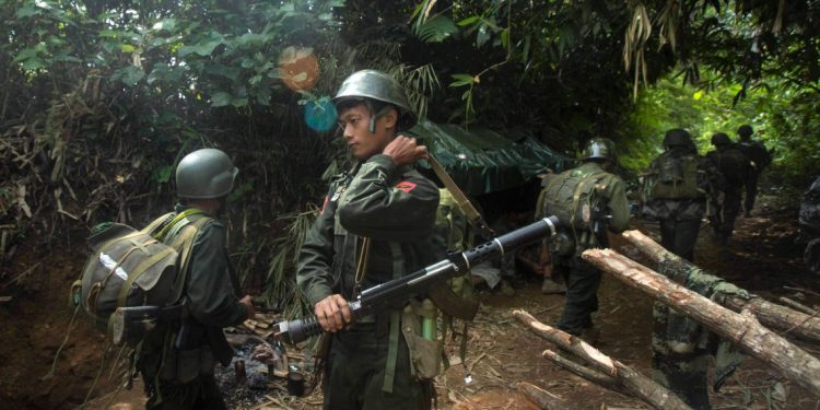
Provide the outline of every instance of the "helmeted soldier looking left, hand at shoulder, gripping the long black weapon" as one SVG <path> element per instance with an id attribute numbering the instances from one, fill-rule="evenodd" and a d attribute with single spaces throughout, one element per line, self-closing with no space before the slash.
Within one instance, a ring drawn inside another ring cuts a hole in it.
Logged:
<path id="1" fill-rule="evenodd" d="M 350 326 L 347 302 L 435 261 L 431 241 L 438 189 L 411 167 L 427 151 L 397 133 L 411 125 L 412 113 L 386 73 L 353 73 L 332 101 L 356 163 L 332 179 L 296 273 L 319 324 L 332 333 L 324 407 L 429 408 L 432 385 L 411 366 L 402 331 L 410 326 L 401 312 L 379 312 Z"/>

